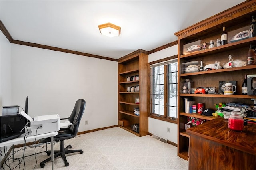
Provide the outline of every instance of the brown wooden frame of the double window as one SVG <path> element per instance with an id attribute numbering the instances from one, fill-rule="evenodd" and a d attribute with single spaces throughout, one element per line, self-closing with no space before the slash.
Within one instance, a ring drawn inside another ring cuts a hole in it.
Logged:
<path id="1" fill-rule="evenodd" d="M 172 60 L 172 59 L 178 59 L 178 55 L 174 55 L 172 57 L 167 57 L 167 58 L 164 58 L 164 59 L 160 59 L 160 60 L 157 60 L 157 61 L 150 62 L 149 65 L 164 63 L 166 61 L 168 62 L 168 60 Z M 150 86 L 150 95 L 149 95 L 150 111 L 148 113 L 148 117 L 177 124 L 178 123 L 178 113 L 176 113 L 177 118 L 167 116 L 168 115 L 168 96 L 169 96 L 169 93 L 168 93 L 168 76 L 167 76 L 168 75 L 168 68 L 167 67 L 168 67 L 168 64 L 164 65 L 164 115 L 151 113 L 151 111 L 152 111 L 152 97 L 151 97 L 152 96 L 151 95 L 152 94 L 152 69 L 151 68 L 149 69 L 150 70 L 150 83 L 149 83 L 149 86 Z M 179 67 L 179 66 L 177 65 L 177 67 Z M 177 72 L 178 72 L 178 70 L 177 70 Z M 176 90 L 177 90 L 177 93 L 178 93 L 178 89 L 176 89 Z M 176 94 L 176 95 L 178 97 L 178 94 Z M 178 103 L 177 103 L 177 107 L 178 107 Z M 176 109 L 176 111 L 177 110 L 178 110 L 178 108 Z"/>

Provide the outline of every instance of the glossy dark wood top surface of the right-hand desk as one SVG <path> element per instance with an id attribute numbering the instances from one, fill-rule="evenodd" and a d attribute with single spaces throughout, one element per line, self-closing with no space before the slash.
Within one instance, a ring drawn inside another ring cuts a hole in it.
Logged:
<path id="1" fill-rule="evenodd" d="M 196 127 L 188 128 L 186 132 L 256 155 L 256 124 L 253 123 L 244 126 L 242 132 L 235 132 L 228 128 L 227 119 L 216 118 Z"/>

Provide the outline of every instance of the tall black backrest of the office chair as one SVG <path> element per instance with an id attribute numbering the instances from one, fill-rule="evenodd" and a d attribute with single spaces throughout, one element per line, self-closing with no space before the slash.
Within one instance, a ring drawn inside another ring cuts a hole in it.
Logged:
<path id="1" fill-rule="evenodd" d="M 76 123 L 78 122 L 77 125 L 72 125 L 69 127 L 71 132 L 74 132 L 76 130 L 74 127 L 77 126 L 79 127 L 80 120 L 82 118 L 82 115 L 84 114 L 84 109 L 85 109 L 85 100 L 84 99 L 78 99 L 76 101 L 76 104 L 74 106 L 74 109 L 68 119 L 71 123 Z M 77 129 L 78 130 L 78 129 Z"/>

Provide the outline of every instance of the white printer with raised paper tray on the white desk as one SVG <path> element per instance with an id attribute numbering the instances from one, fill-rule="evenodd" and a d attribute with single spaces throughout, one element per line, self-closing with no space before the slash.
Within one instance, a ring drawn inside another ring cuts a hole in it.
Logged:
<path id="1" fill-rule="evenodd" d="M 35 116 L 34 119 L 24 111 L 21 111 L 20 114 L 30 120 L 32 136 L 60 130 L 60 116 L 58 114 Z"/>

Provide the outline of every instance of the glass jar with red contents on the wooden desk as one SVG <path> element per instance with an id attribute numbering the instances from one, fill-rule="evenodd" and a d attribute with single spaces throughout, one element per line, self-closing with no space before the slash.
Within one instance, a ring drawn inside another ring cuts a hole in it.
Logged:
<path id="1" fill-rule="evenodd" d="M 244 128 L 244 119 L 240 112 L 232 111 L 228 118 L 228 128 L 235 131 L 242 131 Z"/>

